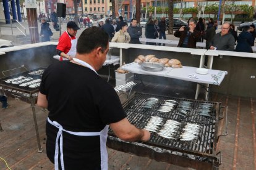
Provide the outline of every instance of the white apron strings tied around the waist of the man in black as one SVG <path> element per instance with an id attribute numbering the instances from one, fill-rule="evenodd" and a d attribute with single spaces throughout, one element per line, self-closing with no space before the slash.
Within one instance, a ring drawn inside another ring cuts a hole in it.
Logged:
<path id="1" fill-rule="evenodd" d="M 67 131 L 63 129 L 61 124 L 59 124 L 56 121 L 51 121 L 49 118 L 47 118 L 48 122 L 52 124 L 53 126 L 57 127 L 59 129 L 56 142 L 55 142 L 55 154 L 54 154 L 54 168 L 55 170 L 59 169 L 59 148 L 61 152 L 61 169 L 64 170 L 64 158 L 63 158 L 63 137 L 62 137 L 62 131 L 65 131 L 69 134 L 75 135 L 75 136 L 100 136 L 100 132 L 72 132 Z M 59 141 L 60 139 L 60 141 Z"/>

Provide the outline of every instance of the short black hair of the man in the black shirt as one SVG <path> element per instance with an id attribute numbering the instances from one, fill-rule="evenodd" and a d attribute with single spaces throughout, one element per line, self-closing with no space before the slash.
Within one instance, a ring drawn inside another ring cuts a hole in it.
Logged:
<path id="1" fill-rule="evenodd" d="M 77 40 L 77 53 L 79 54 L 89 54 L 98 47 L 102 47 L 101 52 L 106 50 L 108 34 L 96 26 L 84 30 Z"/>

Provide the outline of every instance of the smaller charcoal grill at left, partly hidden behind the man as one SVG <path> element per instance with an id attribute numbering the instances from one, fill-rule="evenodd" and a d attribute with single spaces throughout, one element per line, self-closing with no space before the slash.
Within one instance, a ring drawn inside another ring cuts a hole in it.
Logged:
<path id="1" fill-rule="evenodd" d="M 36 114 L 35 114 L 35 103 L 39 91 L 39 87 L 29 87 L 29 86 L 19 86 L 19 84 L 12 84 L 7 83 L 6 81 L 8 79 L 14 79 L 19 78 L 20 76 L 30 78 L 30 81 L 35 79 L 41 79 L 41 76 L 43 75 L 43 71 L 45 71 L 45 68 L 36 68 L 34 70 L 25 71 L 23 73 L 19 73 L 12 76 L 7 76 L 5 78 L 0 79 L 0 91 L 6 96 L 18 98 L 24 102 L 30 103 L 32 107 L 32 113 L 33 113 L 33 119 L 35 123 L 35 130 L 36 130 L 36 138 L 38 142 L 38 152 L 42 152 L 41 144 L 40 144 L 40 137 L 38 132 L 38 125 L 36 121 Z M 23 81 L 23 83 L 26 83 L 28 81 Z M 1 125 L 0 125 L 1 126 Z"/>

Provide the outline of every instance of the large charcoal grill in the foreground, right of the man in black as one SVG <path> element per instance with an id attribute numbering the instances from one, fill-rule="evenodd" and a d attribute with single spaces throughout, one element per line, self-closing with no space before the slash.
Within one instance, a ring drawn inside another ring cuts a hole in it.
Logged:
<path id="1" fill-rule="evenodd" d="M 158 98 L 155 107 L 143 108 L 143 103 L 149 97 Z M 190 113 L 186 116 L 177 115 L 177 107 L 169 113 L 158 111 L 164 100 L 176 100 L 178 105 L 181 101 L 192 102 Z M 213 108 L 209 116 L 198 115 L 200 103 L 211 103 Z M 108 147 L 129 152 L 139 156 L 148 156 L 158 161 L 166 161 L 179 166 L 195 169 L 218 169 L 221 164 L 221 152 L 216 152 L 216 143 L 218 142 L 218 121 L 221 119 L 219 102 L 204 102 L 198 100 L 178 99 L 163 95 L 152 95 L 135 92 L 129 100 L 123 104 L 124 111 L 130 123 L 138 128 L 146 126 L 151 116 L 159 116 L 165 120 L 173 119 L 183 125 L 194 123 L 202 126 L 199 137 L 192 141 L 182 141 L 179 139 L 166 139 L 155 132 L 151 133 L 148 142 L 124 142 L 118 139 L 113 131 L 109 129 Z M 223 117 L 222 117 L 223 118 Z M 226 132 L 227 134 L 227 132 Z"/>

